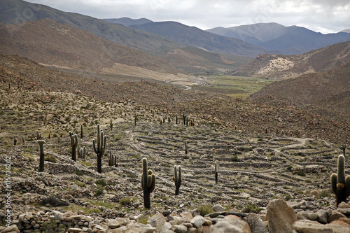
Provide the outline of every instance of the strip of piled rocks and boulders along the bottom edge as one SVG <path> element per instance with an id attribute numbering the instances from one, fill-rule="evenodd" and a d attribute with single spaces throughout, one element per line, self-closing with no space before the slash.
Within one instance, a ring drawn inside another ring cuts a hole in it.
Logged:
<path id="1" fill-rule="evenodd" d="M 260 213 L 225 211 L 214 205 L 213 213 L 201 216 L 197 211 L 163 211 L 144 221 L 144 215 L 127 213 L 123 218 L 102 218 L 80 211 L 20 211 L 1 218 L 12 225 L 0 227 L 9 232 L 98 232 L 98 233 L 202 233 L 202 232 L 350 232 L 350 205 L 342 202 L 337 209 L 319 209 L 319 202 L 284 202 L 274 199 Z M 106 211 L 106 210 L 105 210 Z M 140 223 L 144 222 L 144 223 Z"/>

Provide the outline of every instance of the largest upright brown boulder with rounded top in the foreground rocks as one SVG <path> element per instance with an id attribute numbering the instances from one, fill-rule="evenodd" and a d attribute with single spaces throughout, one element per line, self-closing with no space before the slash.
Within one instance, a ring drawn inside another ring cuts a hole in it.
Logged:
<path id="1" fill-rule="evenodd" d="M 269 202 L 266 218 L 269 221 L 269 233 L 292 233 L 293 223 L 297 221 L 294 209 L 282 199 Z"/>

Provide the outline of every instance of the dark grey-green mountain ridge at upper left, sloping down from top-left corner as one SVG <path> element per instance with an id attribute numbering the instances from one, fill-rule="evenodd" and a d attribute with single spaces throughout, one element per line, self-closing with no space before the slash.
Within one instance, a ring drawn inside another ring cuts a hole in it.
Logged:
<path id="1" fill-rule="evenodd" d="M 137 48 L 150 55 L 164 56 L 174 48 L 185 47 L 155 34 L 135 30 L 121 24 L 113 24 L 87 15 L 66 13 L 62 10 L 50 8 L 49 6 L 22 0 L 0 1 L 0 22 L 4 24 L 43 20 L 45 18 L 59 23 L 69 24 L 118 43 L 119 45 L 128 45 L 132 48 Z"/>

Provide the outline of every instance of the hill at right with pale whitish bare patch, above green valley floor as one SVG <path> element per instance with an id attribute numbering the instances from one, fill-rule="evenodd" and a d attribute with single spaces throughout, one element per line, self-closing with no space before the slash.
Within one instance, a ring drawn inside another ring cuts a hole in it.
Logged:
<path id="1" fill-rule="evenodd" d="M 302 55 L 259 55 L 230 72 L 233 76 L 286 79 L 324 72 L 350 61 L 350 42 L 330 45 Z"/>

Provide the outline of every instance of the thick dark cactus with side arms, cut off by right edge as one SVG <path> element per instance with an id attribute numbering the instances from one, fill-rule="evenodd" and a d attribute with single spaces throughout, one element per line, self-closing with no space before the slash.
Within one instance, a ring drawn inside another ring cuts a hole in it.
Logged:
<path id="1" fill-rule="evenodd" d="M 345 177 L 344 164 L 344 155 L 339 155 L 337 174 L 333 173 L 330 176 L 332 192 L 335 194 L 337 199 L 337 206 L 340 204 L 340 202 L 345 202 L 346 198 L 350 196 L 350 176 Z"/>

